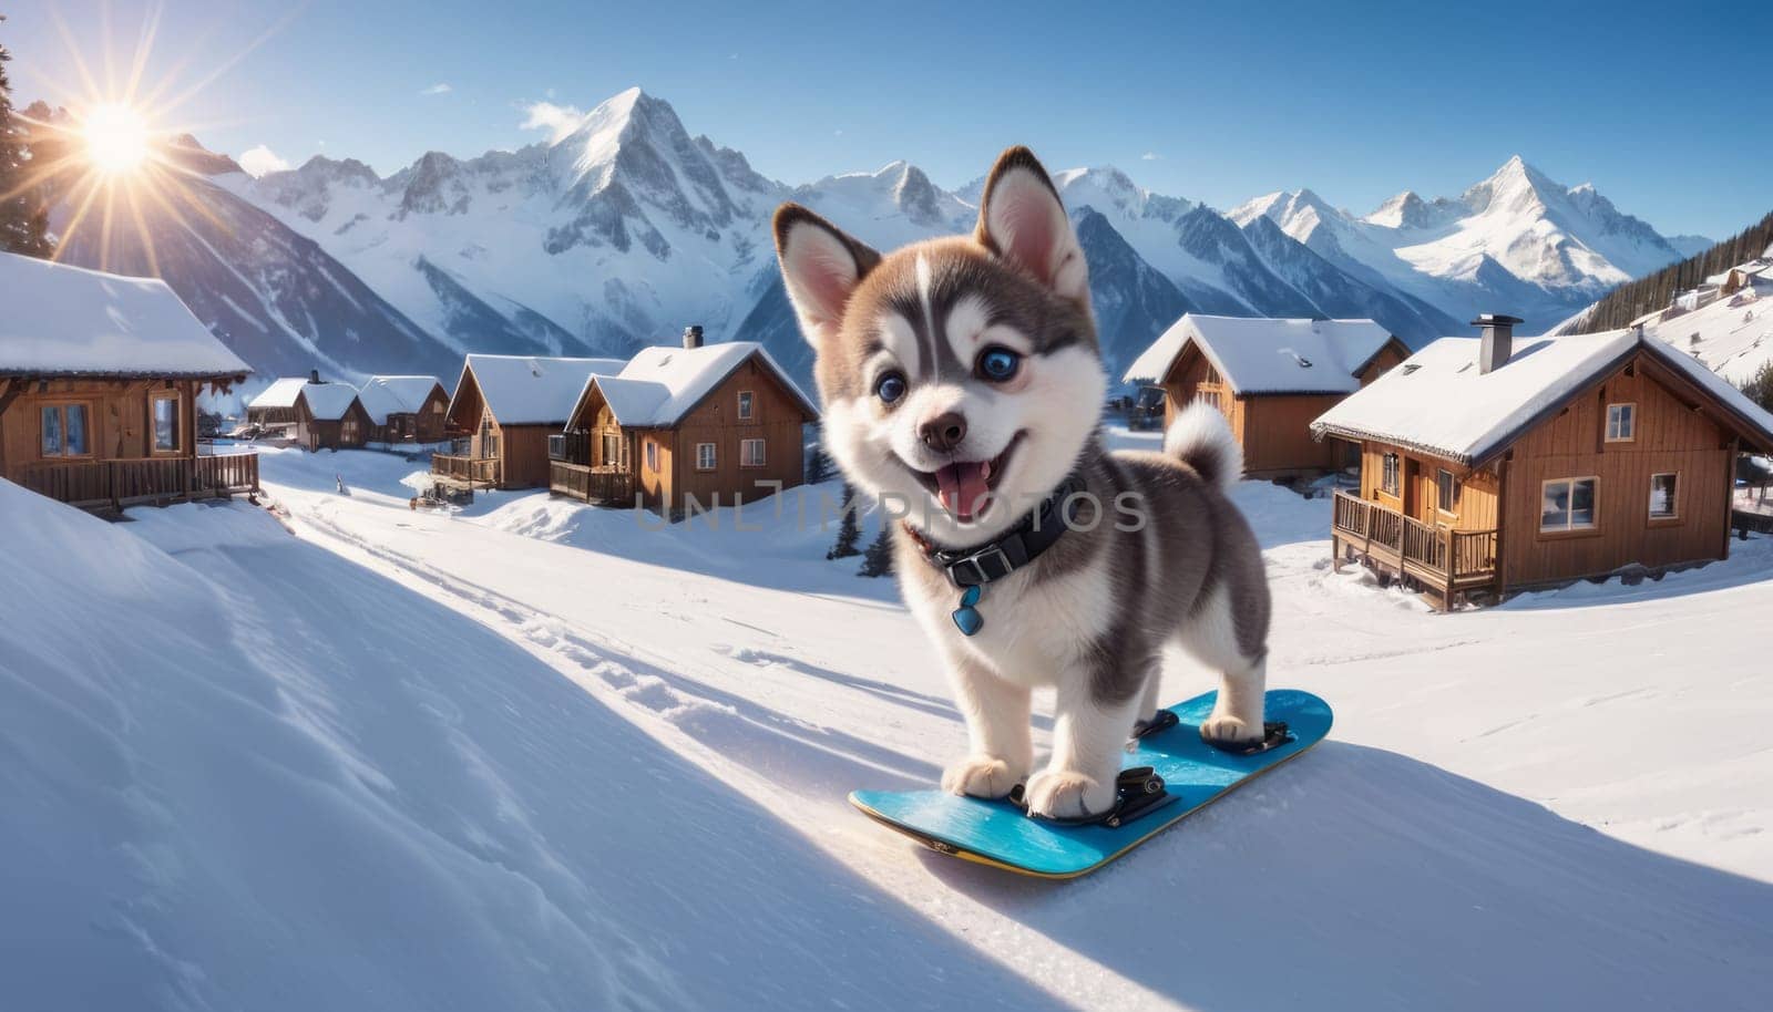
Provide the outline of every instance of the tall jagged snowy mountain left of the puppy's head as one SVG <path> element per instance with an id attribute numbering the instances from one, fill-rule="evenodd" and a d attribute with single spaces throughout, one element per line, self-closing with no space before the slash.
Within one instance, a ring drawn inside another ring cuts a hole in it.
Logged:
<path id="1" fill-rule="evenodd" d="M 553 354 L 622 354 L 684 321 L 718 333 L 773 266 L 785 193 L 640 89 L 519 151 L 229 179 L 454 347 Z"/>

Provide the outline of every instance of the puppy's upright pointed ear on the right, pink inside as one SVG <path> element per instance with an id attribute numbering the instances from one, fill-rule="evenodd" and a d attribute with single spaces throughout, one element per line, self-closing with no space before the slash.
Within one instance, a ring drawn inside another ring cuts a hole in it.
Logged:
<path id="1" fill-rule="evenodd" d="M 1027 147 L 1011 147 L 991 167 L 979 199 L 975 237 L 1053 292 L 1089 308 L 1090 276 L 1083 246 L 1058 202 L 1058 188 Z"/>

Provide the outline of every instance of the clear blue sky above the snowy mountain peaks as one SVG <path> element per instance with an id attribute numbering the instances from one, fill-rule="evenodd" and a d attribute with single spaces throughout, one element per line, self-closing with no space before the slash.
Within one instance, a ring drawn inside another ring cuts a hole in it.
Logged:
<path id="1" fill-rule="evenodd" d="M 126 76 L 154 7 L 0 0 L 16 97 L 87 90 L 67 39 L 94 76 Z M 158 7 L 144 80 L 202 83 L 170 119 L 291 163 L 387 174 L 427 149 L 518 147 L 544 136 L 521 128 L 534 103 L 640 85 L 787 183 L 908 158 L 957 186 L 1030 144 L 1051 168 L 1113 163 L 1218 207 L 1310 186 L 1365 213 L 1402 188 L 1454 195 L 1519 152 L 1667 234 L 1720 237 L 1773 209 L 1764 2 Z"/>

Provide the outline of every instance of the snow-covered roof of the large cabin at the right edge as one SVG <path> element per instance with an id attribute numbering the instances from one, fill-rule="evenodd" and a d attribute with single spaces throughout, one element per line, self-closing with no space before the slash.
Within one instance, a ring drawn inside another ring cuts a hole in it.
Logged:
<path id="1" fill-rule="evenodd" d="M 1482 339 L 1443 337 L 1312 422 L 1317 436 L 1376 440 L 1480 464 L 1636 351 L 1709 393 L 1738 427 L 1773 447 L 1773 415 L 1690 354 L 1636 330 L 1514 339 L 1509 362 L 1479 372 Z"/>

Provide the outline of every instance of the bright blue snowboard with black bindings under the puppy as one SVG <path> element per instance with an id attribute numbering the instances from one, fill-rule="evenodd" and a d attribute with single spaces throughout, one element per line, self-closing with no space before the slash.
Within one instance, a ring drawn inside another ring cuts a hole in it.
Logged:
<path id="1" fill-rule="evenodd" d="M 1215 697 L 1206 693 L 1170 707 L 1177 716 L 1174 727 L 1135 739 L 1122 767 L 1154 769 L 1167 798 L 1115 828 L 1032 819 L 1011 799 L 943 790 L 855 790 L 849 803 L 943 854 L 1043 879 L 1087 876 L 1330 734 L 1330 704 L 1310 693 L 1275 689 L 1266 697 L 1264 720 L 1285 721 L 1287 737 L 1255 755 L 1223 751 L 1200 741 L 1200 721 L 1211 716 Z"/>

